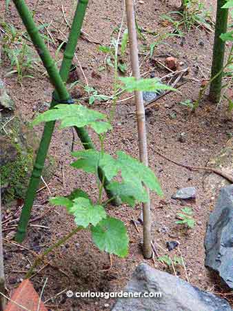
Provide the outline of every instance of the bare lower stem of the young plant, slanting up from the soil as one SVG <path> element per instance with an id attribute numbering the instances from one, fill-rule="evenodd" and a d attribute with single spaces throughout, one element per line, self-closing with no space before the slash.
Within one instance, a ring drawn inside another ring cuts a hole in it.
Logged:
<path id="1" fill-rule="evenodd" d="M 45 250 L 45 252 L 43 252 L 43 254 L 39 255 L 37 257 L 37 259 L 34 261 L 32 267 L 30 267 L 30 270 L 28 270 L 28 273 L 26 274 L 25 279 L 29 279 L 30 276 L 32 276 L 32 274 L 34 273 L 34 269 L 35 267 L 37 267 L 37 265 L 39 265 L 41 263 L 41 261 L 43 261 L 43 259 L 45 258 L 45 256 L 47 256 L 50 252 L 52 252 L 55 248 L 63 245 L 66 241 L 68 241 L 70 238 L 72 238 L 72 236 L 74 236 L 74 234 L 77 234 L 77 232 L 79 232 L 81 229 L 83 229 L 82 227 L 77 227 L 74 230 L 72 230 L 72 232 L 70 232 L 67 236 L 64 236 L 63 238 L 61 238 L 61 240 L 57 241 L 57 243 L 54 243 L 53 245 L 51 245 L 50 247 L 48 247 L 48 249 Z"/>

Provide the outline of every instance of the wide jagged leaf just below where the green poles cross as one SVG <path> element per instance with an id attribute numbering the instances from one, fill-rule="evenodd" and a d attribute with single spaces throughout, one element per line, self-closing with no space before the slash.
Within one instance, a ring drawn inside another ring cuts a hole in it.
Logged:
<path id="1" fill-rule="evenodd" d="M 89 125 L 100 134 L 111 129 L 110 123 L 99 121 L 105 120 L 105 118 L 103 113 L 88 109 L 81 104 L 58 104 L 53 109 L 38 115 L 32 122 L 32 125 L 39 124 L 40 122 L 61 120 L 61 129 L 68 126 L 83 127 Z"/>

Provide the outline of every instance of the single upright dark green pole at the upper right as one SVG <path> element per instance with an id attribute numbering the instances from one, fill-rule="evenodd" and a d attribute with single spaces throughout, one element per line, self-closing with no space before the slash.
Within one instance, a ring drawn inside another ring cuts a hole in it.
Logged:
<path id="1" fill-rule="evenodd" d="M 214 103 L 219 102 L 221 98 L 221 88 L 222 88 L 222 77 L 223 77 L 223 64 L 225 55 L 225 41 L 223 41 L 220 36 L 222 33 L 227 32 L 227 19 L 228 19 L 228 9 L 222 8 L 226 3 L 225 0 L 217 1 L 216 9 L 216 23 L 215 23 L 215 35 L 214 35 L 214 48 L 213 48 L 213 59 L 212 59 L 212 69 L 211 69 L 211 79 L 210 84 L 210 100 Z M 220 73 L 218 75 L 218 73 Z"/>

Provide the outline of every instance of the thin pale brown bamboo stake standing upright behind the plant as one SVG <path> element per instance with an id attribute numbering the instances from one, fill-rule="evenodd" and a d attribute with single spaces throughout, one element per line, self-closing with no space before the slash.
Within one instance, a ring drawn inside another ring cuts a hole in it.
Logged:
<path id="1" fill-rule="evenodd" d="M 128 23 L 128 33 L 130 41 L 130 59 L 132 66 L 132 75 L 136 79 L 140 79 L 138 44 L 136 38 L 136 25 L 134 16 L 133 0 L 125 0 L 126 14 Z M 143 104 L 143 94 L 141 91 L 134 91 L 136 104 L 136 117 L 139 133 L 139 153 L 140 160 L 144 165 L 148 166 L 148 147 L 145 129 L 145 109 Z M 143 203 L 143 256 L 145 258 L 152 257 L 151 246 L 151 216 L 150 216 L 150 192 L 147 187 L 149 201 Z"/>

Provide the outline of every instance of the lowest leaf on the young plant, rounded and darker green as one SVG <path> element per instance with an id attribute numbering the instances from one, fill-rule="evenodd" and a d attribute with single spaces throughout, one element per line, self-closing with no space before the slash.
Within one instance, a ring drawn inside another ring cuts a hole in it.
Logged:
<path id="1" fill-rule="evenodd" d="M 128 254 L 129 238 L 124 223 L 112 217 L 107 217 L 96 226 L 91 227 L 92 240 L 101 250 L 119 257 Z"/>

